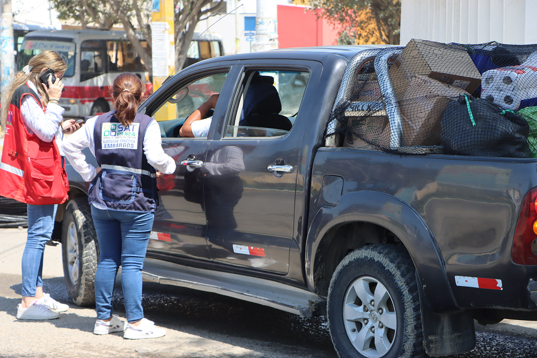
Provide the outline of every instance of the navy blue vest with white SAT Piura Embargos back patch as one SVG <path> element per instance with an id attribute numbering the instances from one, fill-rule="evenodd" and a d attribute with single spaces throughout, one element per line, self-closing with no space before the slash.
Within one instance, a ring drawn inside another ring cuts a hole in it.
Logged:
<path id="1" fill-rule="evenodd" d="M 93 178 L 89 202 L 111 210 L 155 211 L 158 207 L 156 170 L 143 152 L 143 137 L 154 119 L 136 113 L 129 126 L 101 114 L 95 121 L 95 157 L 103 169 Z"/>

